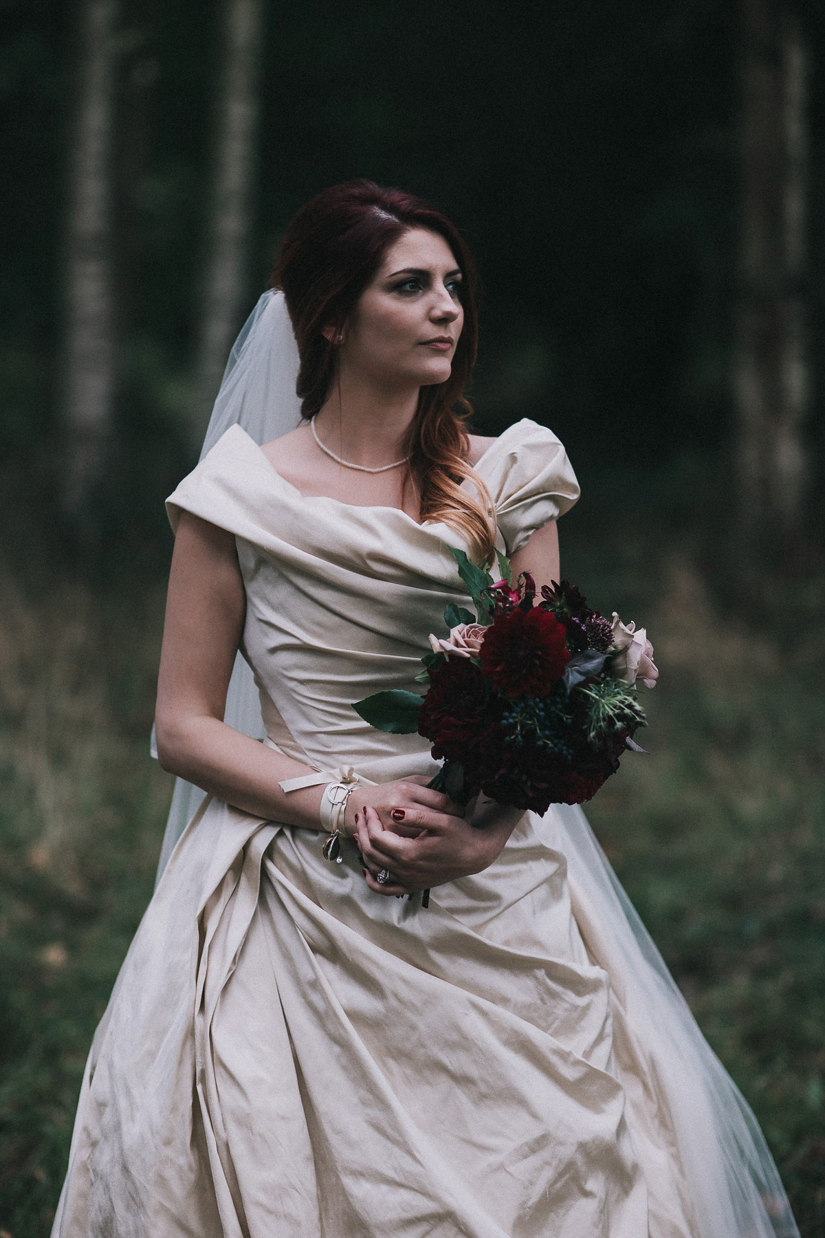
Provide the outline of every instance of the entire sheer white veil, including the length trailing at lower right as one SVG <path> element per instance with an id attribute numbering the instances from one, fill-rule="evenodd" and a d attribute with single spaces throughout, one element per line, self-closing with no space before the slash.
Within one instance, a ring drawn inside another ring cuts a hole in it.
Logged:
<path id="1" fill-rule="evenodd" d="M 229 357 L 200 458 L 235 423 L 257 443 L 293 430 L 297 373 L 283 293 L 265 292 Z M 257 688 L 240 654 L 225 721 L 254 738 L 265 735 Z M 177 780 L 158 878 L 203 797 Z M 682 1164 L 696 1238 L 799 1238 L 756 1118 L 701 1035 L 584 813 L 557 805 L 555 820 L 576 922 L 615 994 L 617 1065 L 639 1083 L 648 1081 L 654 1108 L 674 1132 L 669 1154 Z"/>

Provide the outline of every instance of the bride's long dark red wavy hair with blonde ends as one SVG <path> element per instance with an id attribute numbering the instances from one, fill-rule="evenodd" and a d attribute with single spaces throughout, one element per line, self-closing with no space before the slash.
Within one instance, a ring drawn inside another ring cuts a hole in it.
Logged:
<path id="1" fill-rule="evenodd" d="M 464 327 L 449 379 L 421 387 L 406 443 L 408 478 L 418 494 L 421 519 L 460 529 L 481 561 L 487 562 L 495 552 L 492 501 L 466 462 L 466 422 L 472 407 L 464 389 L 479 338 L 476 276 L 459 232 L 434 207 L 411 193 L 371 181 L 348 181 L 324 189 L 291 220 L 278 248 L 271 286 L 281 288 L 286 297 L 301 357 L 297 394 L 302 416 L 309 420 L 322 409 L 335 381 L 336 335 L 387 249 L 411 228 L 438 233 L 450 246 L 464 276 L 459 293 Z M 477 498 L 461 489 L 465 478 L 472 479 Z"/>

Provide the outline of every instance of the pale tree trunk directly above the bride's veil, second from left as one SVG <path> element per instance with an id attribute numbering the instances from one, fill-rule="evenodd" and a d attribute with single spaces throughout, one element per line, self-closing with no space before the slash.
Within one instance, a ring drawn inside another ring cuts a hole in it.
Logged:
<path id="1" fill-rule="evenodd" d="M 259 120 L 262 0 L 226 0 L 215 171 L 195 371 L 193 442 L 200 447 L 226 357 L 240 326 Z"/>

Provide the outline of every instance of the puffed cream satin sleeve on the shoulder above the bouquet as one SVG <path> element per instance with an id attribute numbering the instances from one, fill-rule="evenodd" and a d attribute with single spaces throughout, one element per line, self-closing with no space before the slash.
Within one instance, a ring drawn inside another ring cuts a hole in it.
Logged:
<path id="1" fill-rule="evenodd" d="M 507 555 L 515 555 L 548 521 L 579 498 L 579 483 L 552 430 L 524 417 L 485 452 L 475 472 L 496 506 Z"/>

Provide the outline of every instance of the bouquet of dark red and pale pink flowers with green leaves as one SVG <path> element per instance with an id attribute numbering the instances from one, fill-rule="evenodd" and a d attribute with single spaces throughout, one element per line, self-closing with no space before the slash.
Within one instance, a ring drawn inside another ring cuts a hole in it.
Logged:
<path id="1" fill-rule="evenodd" d="M 644 629 L 590 609 L 568 581 L 542 588 L 528 572 L 501 579 L 451 548 L 476 608 L 449 604 L 447 638 L 416 676 L 427 693 L 400 690 L 359 701 L 380 730 L 432 740 L 442 770 L 429 784 L 461 806 L 484 792 L 502 805 L 544 813 L 550 803 L 583 803 L 618 769 L 644 725 L 636 683 L 658 671 Z"/>

